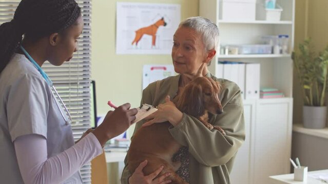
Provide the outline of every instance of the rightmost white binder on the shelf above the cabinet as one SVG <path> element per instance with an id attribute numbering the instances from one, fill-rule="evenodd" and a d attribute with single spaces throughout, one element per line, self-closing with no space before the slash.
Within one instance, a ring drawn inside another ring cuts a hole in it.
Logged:
<path id="1" fill-rule="evenodd" d="M 260 63 L 247 63 L 245 70 L 245 99 L 260 98 Z"/>

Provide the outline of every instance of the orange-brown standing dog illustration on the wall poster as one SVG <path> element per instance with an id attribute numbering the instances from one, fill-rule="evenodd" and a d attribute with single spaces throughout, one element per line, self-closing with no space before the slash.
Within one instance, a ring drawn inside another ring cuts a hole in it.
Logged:
<path id="1" fill-rule="evenodd" d="M 140 41 L 140 39 L 142 38 L 142 36 L 144 34 L 150 35 L 152 36 L 152 43 L 151 45 L 155 47 L 155 43 L 156 43 L 156 33 L 157 30 L 160 26 L 166 26 L 166 22 L 164 21 L 164 17 L 162 17 L 161 19 L 159 19 L 157 22 L 155 22 L 155 24 L 150 25 L 148 27 L 144 27 L 144 28 L 140 28 L 139 30 L 136 31 L 136 37 L 134 37 L 134 40 L 132 41 L 132 45 L 134 43 L 136 43 L 136 45 L 138 45 L 138 42 Z"/>

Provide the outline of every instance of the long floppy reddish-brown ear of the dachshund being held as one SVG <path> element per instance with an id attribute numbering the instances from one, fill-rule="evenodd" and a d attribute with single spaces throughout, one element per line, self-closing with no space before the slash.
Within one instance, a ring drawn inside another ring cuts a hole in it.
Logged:
<path id="1" fill-rule="evenodd" d="M 177 107 L 182 112 L 199 117 L 204 114 L 204 100 L 201 85 L 188 84 L 184 87 Z"/>

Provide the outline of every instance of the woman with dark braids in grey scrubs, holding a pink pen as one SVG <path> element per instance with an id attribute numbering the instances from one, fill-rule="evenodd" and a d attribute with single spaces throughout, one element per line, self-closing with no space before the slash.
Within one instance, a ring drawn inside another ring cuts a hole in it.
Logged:
<path id="1" fill-rule="evenodd" d="M 136 118 L 124 104 L 74 144 L 69 112 L 41 66 L 69 61 L 83 25 L 74 0 L 22 0 L 0 25 L 1 183 L 82 183 L 80 168 Z"/>

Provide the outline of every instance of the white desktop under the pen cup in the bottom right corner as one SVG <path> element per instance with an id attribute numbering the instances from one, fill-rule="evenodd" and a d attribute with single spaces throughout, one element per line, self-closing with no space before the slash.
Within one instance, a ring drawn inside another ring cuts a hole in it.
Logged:
<path id="1" fill-rule="evenodd" d="M 314 173 L 321 173 L 321 172 L 328 172 L 327 170 L 320 170 L 320 171 L 311 171 L 307 172 L 307 174 L 314 174 Z M 269 180 L 271 184 L 326 184 L 323 181 L 314 179 L 310 176 L 307 176 L 307 182 L 303 181 L 294 181 L 294 174 L 283 174 L 283 175 L 276 175 L 276 176 L 269 176 Z"/>

